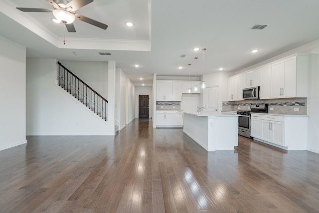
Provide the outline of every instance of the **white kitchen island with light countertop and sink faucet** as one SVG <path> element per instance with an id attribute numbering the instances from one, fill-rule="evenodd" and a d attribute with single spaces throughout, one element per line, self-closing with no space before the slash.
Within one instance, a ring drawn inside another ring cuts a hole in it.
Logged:
<path id="1" fill-rule="evenodd" d="M 207 151 L 238 146 L 238 115 L 184 112 L 183 132 Z"/>

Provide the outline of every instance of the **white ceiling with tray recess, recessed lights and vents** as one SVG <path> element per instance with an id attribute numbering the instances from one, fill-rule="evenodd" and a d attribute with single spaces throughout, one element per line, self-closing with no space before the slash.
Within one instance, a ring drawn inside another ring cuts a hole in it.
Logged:
<path id="1" fill-rule="evenodd" d="M 194 76 L 194 57 L 197 75 L 220 67 L 234 72 L 319 39 L 319 0 L 94 0 L 76 13 L 109 27 L 75 20 L 73 33 L 53 23 L 52 13 L 21 12 L 15 6 L 52 6 L 45 0 L 0 1 L 0 35 L 26 46 L 27 57 L 115 60 L 136 86 L 151 86 L 153 73 L 188 76 L 188 63 Z M 126 21 L 135 25 L 126 27 Z M 251 29 L 255 24 L 268 26 Z M 203 53 L 194 47 L 207 49 L 205 71 Z M 259 52 L 251 53 L 255 48 Z"/>

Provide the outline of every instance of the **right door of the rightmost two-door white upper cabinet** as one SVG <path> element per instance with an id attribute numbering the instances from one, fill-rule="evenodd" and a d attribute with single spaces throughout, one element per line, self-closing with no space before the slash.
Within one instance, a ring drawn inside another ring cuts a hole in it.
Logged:
<path id="1" fill-rule="evenodd" d="M 283 60 L 284 86 L 283 97 L 296 97 L 297 91 L 297 58 L 296 56 Z"/>

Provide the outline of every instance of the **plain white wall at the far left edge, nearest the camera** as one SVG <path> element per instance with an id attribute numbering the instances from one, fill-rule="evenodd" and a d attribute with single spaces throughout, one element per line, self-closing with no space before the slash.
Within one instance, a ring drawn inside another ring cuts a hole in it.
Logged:
<path id="1" fill-rule="evenodd" d="M 25 140 L 26 49 L 0 36 L 0 150 Z"/>

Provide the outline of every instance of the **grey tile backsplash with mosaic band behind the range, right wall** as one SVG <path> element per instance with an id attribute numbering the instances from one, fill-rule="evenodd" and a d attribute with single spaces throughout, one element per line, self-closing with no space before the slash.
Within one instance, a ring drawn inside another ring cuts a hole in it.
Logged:
<path id="1" fill-rule="evenodd" d="M 307 115 L 307 98 L 223 101 L 222 111 L 250 110 L 250 104 L 268 104 L 269 113 Z"/>

